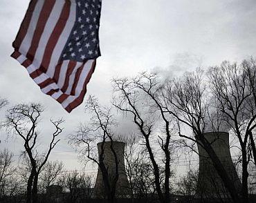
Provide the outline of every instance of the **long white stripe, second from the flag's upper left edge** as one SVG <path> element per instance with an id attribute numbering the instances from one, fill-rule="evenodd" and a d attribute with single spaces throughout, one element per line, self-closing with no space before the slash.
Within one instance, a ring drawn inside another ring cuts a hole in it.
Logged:
<path id="1" fill-rule="evenodd" d="M 38 48 L 37 48 L 37 51 L 35 52 L 35 57 L 34 57 L 34 61 L 33 61 L 33 64 L 37 68 L 39 68 L 39 66 L 42 63 L 42 60 L 44 57 L 44 51 L 46 49 L 48 40 L 51 37 L 51 34 L 57 24 L 57 21 L 60 19 L 60 14 L 62 13 L 62 8 L 64 6 L 64 2 L 65 1 L 55 1 L 53 10 L 51 11 L 50 16 L 48 17 L 46 26 L 44 28 L 44 32 L 42 33 L 42 36 L 40 37 Z"/>

